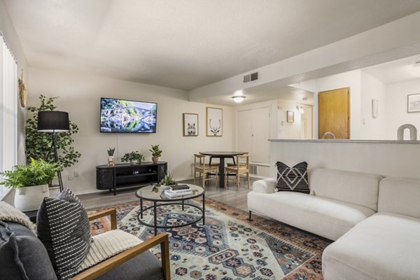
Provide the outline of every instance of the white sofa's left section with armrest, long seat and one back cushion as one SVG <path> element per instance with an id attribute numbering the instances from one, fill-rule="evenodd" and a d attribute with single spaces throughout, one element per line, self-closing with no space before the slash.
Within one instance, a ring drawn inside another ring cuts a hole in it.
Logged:
<path id="1" fill-rule="evenodd" d="M 309 172 L 313 195 L 275 192 L 276 179 L 253 183 L 248 193 L 251 213 L 273 218 L 316 235 L 336 240 L 377 211 L 383 176 L 334 169 Z"/>

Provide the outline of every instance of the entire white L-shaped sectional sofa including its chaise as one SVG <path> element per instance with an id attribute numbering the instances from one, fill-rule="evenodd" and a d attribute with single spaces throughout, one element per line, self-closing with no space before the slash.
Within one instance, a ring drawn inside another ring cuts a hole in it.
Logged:
<path id="1" fill-rule="evenodd" d="M 323 252 L 325 280 L 420 279 L 420 179 L 314 169 L 313 195 L 253 183 L 248 209 L 335 240 Z"/>

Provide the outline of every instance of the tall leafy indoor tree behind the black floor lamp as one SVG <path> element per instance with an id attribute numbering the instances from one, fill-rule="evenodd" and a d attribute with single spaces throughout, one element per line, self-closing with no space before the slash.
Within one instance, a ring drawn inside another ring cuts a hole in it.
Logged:
<path id="1" fill-rule="evenodd" d="M 50 133 L 38 132 L 38 111 L 55 111 L 57 106 L 54 105 L 55 99 L 58 97 L 45 97 L 43 94 L 39 96 L 41 105 L 39 107 L 29 107 L 28 111 L 32 113 L 31 118 L 26 121 L 26 155 L 27 162 L 30 158 L 43 159 L 46 162 L 54 162 L 54 152 L 52 151 L 52 139 Z M 58 151 L 58 162 L 62 167 L 71 167 L 80 158 L 81 154 L 74 149 L 73 134 L 78 132 L 78 126 L 69 121 L 70 130 L 68 132 L 59 132 L 55 135 L 55 141 Z"/>

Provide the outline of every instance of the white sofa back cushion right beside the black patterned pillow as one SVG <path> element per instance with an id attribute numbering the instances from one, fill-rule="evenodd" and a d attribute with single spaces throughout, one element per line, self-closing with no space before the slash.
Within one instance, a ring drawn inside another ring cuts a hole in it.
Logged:
<path id="1" fill-rule="evenodd" d="M 349 202 L 377 211 L 380 175 L 335 169 L 313 169 L 309 188 L 316 196 Z"/>

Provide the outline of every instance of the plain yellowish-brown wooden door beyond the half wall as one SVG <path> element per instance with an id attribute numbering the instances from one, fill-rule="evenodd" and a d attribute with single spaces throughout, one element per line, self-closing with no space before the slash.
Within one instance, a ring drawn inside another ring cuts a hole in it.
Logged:
<path id="1" fill-rule="evenodd" d="M 335 139 L 350 139 L 349 92 L 349 87 L 318 92 L 318 139 L 325 132 L 332 132 Z"/>

